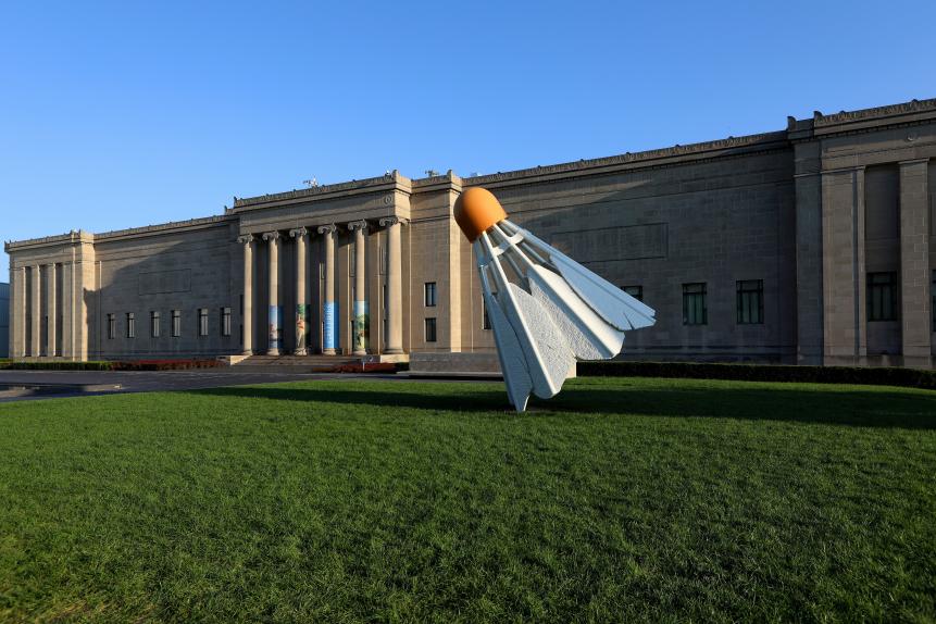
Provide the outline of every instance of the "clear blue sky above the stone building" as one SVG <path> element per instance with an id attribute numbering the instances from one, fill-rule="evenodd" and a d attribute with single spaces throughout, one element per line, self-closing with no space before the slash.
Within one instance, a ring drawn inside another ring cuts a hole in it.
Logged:
<path id="1" fill-rule="evenodd" d="M 0 238 L 931 98 L 934 24 L 932 0 L 4 2 Z"/>

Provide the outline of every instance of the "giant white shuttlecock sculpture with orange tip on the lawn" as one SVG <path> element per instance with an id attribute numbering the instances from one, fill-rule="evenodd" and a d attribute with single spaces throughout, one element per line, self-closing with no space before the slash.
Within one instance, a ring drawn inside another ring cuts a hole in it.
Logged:
<path id="1" fill-rule="evenodd" d="M 610 282 L 513 224 L 490 191 L 458 198 L 455 222 L 474 245 L 478 276 L 507 394 L 517 412 L 529 395 L 554 397 L 578 360 L 621 352 L 624 332 L 654 312 Z"/>

